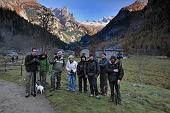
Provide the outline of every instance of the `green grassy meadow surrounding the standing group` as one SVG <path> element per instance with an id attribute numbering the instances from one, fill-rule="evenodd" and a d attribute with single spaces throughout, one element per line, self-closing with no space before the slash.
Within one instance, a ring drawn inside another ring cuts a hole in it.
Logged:
<path id="1" fill-rule="evenodd" d="M 47 88 L 44 95 L 56 113 L 170 113 L 170 59 L 131 57 L 123 60 L 123 67 L 121 106 L 108 103 L 109 96 L 98 100 L 88 94 L 66 91 L 66 72 L 62 75 L 61 90 L 50 92 Z M 1 74 L 0 79 L 24 83 L 20 71 L 8 71 Z"/>

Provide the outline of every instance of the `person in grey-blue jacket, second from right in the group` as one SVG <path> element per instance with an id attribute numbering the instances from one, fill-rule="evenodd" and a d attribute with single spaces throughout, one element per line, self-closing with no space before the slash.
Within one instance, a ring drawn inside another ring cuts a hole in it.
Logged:
<path id="1" fill-rule="evenodd" d="M 108 84 L 107 84 L 107 72 L 106 66 L 109 61 L 106 58 L 106 53 L 101 54 L 101 60 L 99 61 L 100 66 L 100 92 L 101 95 L 107 95 Z"/>

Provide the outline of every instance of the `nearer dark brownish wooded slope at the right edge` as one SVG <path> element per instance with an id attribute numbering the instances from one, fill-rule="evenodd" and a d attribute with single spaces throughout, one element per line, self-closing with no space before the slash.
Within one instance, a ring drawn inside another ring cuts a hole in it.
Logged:
<path id="1" fill-rule="evenodd" d="M 133 31 L 134 23 L 125 35 L 124 48 L 129 52 L 142 52 L 170 56 L 170 1 L 149 0 L 141 26 Z"/>

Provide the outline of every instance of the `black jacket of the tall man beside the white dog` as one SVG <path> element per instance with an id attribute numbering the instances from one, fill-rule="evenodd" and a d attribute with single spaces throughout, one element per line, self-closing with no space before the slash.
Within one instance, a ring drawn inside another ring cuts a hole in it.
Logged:
<path id="1" fill-rule="evenodd" d="M 27 55 L 25 58 L 25 67 L 27 72 L 38 71 L 39 59 L 38 56 Z"/>

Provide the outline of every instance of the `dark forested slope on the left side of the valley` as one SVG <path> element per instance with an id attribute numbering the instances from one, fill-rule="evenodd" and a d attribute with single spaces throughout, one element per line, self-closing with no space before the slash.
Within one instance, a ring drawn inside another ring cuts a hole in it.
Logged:
<path id="1" fill-rule="evenodd" d="M 47 30 L 32 25 L 15 12 L 0 8 L 0 47 L 28 50 L 32 47 L 64 48 L 65 43 Z"/>

